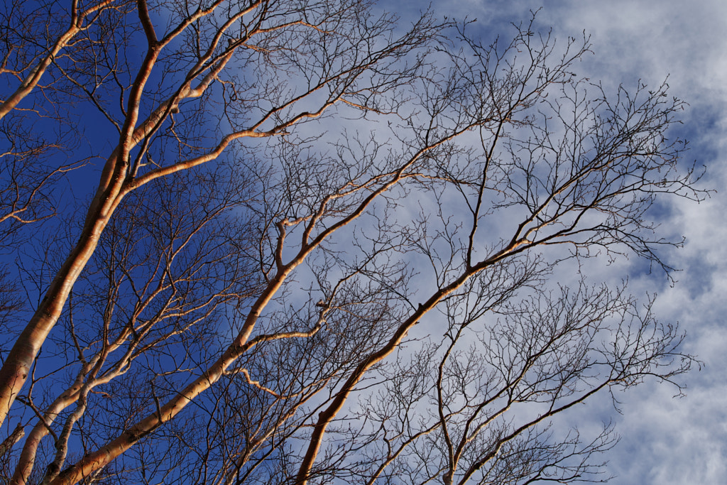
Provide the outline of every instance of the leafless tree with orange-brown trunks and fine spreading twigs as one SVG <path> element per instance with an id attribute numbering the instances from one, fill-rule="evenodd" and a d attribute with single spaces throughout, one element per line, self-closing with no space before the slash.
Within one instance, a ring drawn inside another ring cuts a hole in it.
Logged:
<path id="1" fill-rule="evenodd" d="M 668 273 L 648 209 L 702 197 L 665 137 L 680 100 L 606 95 L 572 72 L 587 38 L 534 20 L 481 44 L 376 12 L 6 7 L 0 229 L 42 294 L 3 347 L 6 481 L 598 481 L 611 428 L 561 412 L 680 389 L 651 300 L 555 278 L 598 254 Z M 81 142 L 36 143 L 75 157 L 38 169 L 18 140 L 48 126 Z M 97 159 L 87 201 L 55 188 Z M 39 220 L 73 239 L 18 236 Z"/>

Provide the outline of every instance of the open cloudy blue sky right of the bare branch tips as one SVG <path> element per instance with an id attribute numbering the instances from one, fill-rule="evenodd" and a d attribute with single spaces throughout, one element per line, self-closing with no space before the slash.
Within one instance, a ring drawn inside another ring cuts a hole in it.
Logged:
<path id="1" fill-rule="evenodd" d="M 672 95 L 686 100 L 680 137 L 690 141 L 686 162 L 707 169 L 703 188 L 715 189 L 700 204 L 671 201 L 665 231 L 686 236 L 668 254 L 680 272 L 674 286 L 654 274 L 629 273 L 621 265 L 603 275 L 629 277 L 631 292 L 658 293 L 656 316 L 678 322 L 684 350 L 699 358 L 685 380 L 686 396 L 669 385 L 647 382 L 617 396 L 614 423 L 621 441 L 607 459 L 612 484 L 723 484 L 727 476 L 727 2 L 723 0 L 434 1 L 435 12 L 476 18 L 493 33 L 538 12 L 539 25 L 558 39 L 590 34 L 593 55 L 580 68 L 606 87 L 639 79 L 667 79 Z M 598 404 L 578 419 L 598 412 Z"/>

